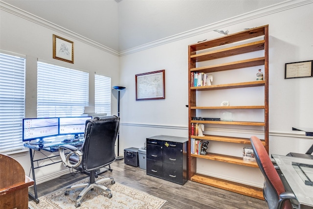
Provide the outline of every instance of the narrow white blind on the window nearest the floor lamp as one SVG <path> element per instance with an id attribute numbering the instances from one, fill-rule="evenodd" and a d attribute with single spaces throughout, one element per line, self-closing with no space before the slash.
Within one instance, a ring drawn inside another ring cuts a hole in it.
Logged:
<path id="1" fill-rule="evenodd" d="M 111 116 L 111 78 L 94 75 L 94 111 Z"/>

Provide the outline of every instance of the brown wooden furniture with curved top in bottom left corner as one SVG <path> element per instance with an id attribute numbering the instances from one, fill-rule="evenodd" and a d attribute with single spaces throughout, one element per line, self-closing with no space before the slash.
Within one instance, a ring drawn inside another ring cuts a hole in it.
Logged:
<path id="1" fill-rule="evenodd" d="M 0 209 L 27 209 L 28 186 L 33 184 L 19 162 L 0 154 Z"/>

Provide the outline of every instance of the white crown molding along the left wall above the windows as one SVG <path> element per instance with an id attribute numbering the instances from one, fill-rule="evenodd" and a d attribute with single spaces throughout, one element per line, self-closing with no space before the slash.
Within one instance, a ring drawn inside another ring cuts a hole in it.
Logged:
<path id="1" fill-rule="evenodd" d="M 84 36 L 81 36 L 77 33 L 74 33 L 73 31 L 70 31 L 64 27 L 57 25 L 57 24 L 46 21 L 46 20 L 44 20 L 44 19 L 42 19 L 36 15 L 33 15 L 29 12 L 26 12 L 22 9 L 15 7 L 15 6 L 12 6 L 6 2 L 0 1 L 0 10 L 6 11 L 12 15 L 16 15 L 16 16 L 23 18 L 29 22 L 39 24 L 43 27 L 46 27 L 50 30 L 55 31 L 55 33 L 57 33 L 57 34 L 63 34 L 65 36 L 70 37 L 71 39 L 74 39 L 74 40 L 77 40 L 77 41 L 82 42 L 84 44 L 87 44 L 89 46 L 98 48 L 102 51 L 113 54 L 115 56 L 119 56 L 119 52 L 113 50 L 112 48 L 109 48 L 107 46 L 103 46 L 97 42 L 94 42 L 94 41 L 84 37 Z"/>

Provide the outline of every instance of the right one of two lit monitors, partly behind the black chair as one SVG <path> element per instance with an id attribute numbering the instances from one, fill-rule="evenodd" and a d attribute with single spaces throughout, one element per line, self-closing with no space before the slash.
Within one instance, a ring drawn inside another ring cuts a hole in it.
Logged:
<path id="1" fill-rule="evenodd" d="M 92 119 L 92 116 L 78 117 L 59 117 L 60 135 L 74 135 L 77 139 L 79 134 L 85 133 L 86 120 Z"/>

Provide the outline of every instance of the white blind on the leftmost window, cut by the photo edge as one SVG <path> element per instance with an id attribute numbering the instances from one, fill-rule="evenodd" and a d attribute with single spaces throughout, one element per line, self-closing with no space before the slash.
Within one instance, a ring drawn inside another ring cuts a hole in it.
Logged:
<path id="1" fill-rule="evenodd" d="M 0 53 L 0 152 L 22 149 L 25 58 Z"/>

